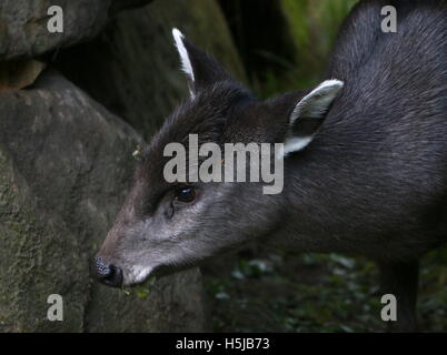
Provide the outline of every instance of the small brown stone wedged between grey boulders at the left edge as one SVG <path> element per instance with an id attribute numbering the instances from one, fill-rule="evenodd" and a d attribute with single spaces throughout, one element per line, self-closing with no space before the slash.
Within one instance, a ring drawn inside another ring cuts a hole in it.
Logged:
<path id="1" fill-rule="evenodd" d="M 0 91 L 20 90 L 31 85 L 46 64 L 33 59 L 0 63 Z"/>

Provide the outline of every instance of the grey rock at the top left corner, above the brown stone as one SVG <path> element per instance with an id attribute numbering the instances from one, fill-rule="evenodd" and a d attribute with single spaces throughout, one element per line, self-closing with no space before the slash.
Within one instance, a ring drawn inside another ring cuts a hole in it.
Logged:
<path id="1" fill-rule="evenodd" d="M 92 39 L 110 16 L 123 8 L 150 0 L 59 0 L 63 10 L 63 32 L 50 33 L 50 0 L 2 0 L 0 2 L 0 60 L 36 57 L 59 47 Z"/>

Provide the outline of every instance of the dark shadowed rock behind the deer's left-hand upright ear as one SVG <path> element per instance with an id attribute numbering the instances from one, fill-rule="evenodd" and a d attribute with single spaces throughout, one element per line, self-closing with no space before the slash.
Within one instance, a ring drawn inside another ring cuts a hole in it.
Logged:
<path id="1" fill-rule="evenodd" d="M 245 71 L 215 0 L 156 0 L 119 13 L 89 43 L 62 50 L 56 65 L 146 138 L 187 98 L 171 29 L 218 58 L 236 79 Z"/>

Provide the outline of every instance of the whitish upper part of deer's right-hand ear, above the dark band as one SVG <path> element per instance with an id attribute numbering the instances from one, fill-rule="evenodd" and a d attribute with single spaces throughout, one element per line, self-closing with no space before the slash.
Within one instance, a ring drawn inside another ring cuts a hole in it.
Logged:
<path id="1" fill-rule="evenodd" d="M 344 82 L 337 79 L 326 80 L 297 103 L 291 115 L 290 125 L 298 118 L 320 119 L 327 112 L 330 103 L 338 95 Z"/>

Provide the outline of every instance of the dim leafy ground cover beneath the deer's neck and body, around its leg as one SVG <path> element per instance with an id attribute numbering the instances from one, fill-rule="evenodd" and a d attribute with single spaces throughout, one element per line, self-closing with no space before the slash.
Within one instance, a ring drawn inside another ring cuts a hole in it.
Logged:
<path id="1" fill-rule="evenodd" d="M 262 253 L 261 253 L 262 254 Z M 447 250 L 423 261 L 421 332 L 447 329 Z M 378 270 L 339 254 L 267 253 L 206 277 L 217 332 L 384 332 Z"/>

